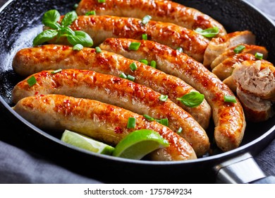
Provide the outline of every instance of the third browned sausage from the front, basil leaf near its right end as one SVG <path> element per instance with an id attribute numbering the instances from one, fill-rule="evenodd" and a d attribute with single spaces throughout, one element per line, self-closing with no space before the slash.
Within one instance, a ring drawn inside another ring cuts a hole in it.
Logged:
<path id="1" fill-rule="evenodd" d="M 78 52 L 73 51 L 72 47 L 68 46 L 43 45 L 18 51 L 13 58 L 13 69 L 23 76 L 29 76 L 42 70 L 59 68 L 89 69 L 114 76 L 120 76 L 121 72 L 130 74 L 135 76 L 136 83 L 148 86 L 163 95 L 169 95 L 170 100 L 190 112 L 204 129 L 207 128 L 211 109 L 206 100 L 194 108 L 187 107 L 176 100 L 176 98 L 181 98 L 191 91 L 196 91 L 193 87 L 180 78 L 167 75 L 140 62 L 135 62 L 138 69 L 132 71 L 130 69 L 132 63 L 133 60 L 107 51 L 97 53 L 94 49 L 84 48 Z"/>

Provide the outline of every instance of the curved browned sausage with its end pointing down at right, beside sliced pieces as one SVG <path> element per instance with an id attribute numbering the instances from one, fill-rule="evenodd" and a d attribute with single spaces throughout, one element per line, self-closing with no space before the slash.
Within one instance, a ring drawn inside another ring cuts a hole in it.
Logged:
<path id="1" fill-rule="evenodd" d="M 127 46 L 133 40 L 110 38 L 102 45 L 102 49 L 121 53 L 126 57 L 135 58 L 142 54 L 143 59 L 156 60 L 157 68 L 182 78 L 185 82 L 205 95 L 212 107 L 215 124 L 216 144 L 223 151 L 239 146 L 245 130 L 245 115 L 239 101 L 224 102 L 224 95 L 233 95 L 232 91 L 202 64 L 187 55 L 177 52 L 165 45 L 149 40 L 142 40 L 138 53 L 131 52 Z"/>

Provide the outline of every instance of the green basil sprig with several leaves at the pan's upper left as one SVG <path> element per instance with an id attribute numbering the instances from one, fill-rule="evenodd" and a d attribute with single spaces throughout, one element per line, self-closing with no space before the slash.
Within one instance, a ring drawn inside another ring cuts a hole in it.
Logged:
<path id="1" fill-rule="evenodd" d="M 42 23 L 51 28 L 51 30 L 44 30 L 42 33 L 39 33 L 33 40 L 32 45 L 42 45 L 44 42 L 54 39 L 54 37 L 57 37 L 56 40 L 59 40 L 60 37 L 67 37 L 68 42 L 73 46 L 92 47 L 93 40 L 90 35 L 80 30 L 73 31 L 68 27 L 78 18 L 78 14 L 75 11 L 66 13 L 61 23 L 58 22 L 60 18 L 61 15 L 56 10 L 49 10 L 44 13 Z"/>

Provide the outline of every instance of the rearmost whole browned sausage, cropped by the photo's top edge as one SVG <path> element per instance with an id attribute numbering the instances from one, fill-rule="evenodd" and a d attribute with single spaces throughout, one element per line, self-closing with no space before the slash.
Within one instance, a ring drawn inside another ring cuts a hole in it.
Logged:
<path id="1" fill-rule="evenodd" d="M 219 36 L 226 35 L 226 30 L 221 23 L 198 11 L 173 1 L 157 0 L 106 0 L 105 4 L 97 0 L 82 0 L 78 4 L 76 12 L 85 15 L 88 11 L 95 11 L 97 15 L 112 15 L 143 18 L 152 16 L 154 21 L 175 23 L 190 30 L 196 28 L 219 28 Z"/>

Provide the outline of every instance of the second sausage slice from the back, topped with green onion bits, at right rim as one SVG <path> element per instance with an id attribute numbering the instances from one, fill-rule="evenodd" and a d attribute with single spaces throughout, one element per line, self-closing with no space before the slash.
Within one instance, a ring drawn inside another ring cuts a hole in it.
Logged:
<path id="1" fill-rule="evenodd" d="M 257 52 L 263 54 L 263 59 L 267 59 L 268 52 L 267 48 L 259 46 L 259 45 L 247 45 L 247 44 L 240 44 L 243 45 L 245 48 L 240 52 L 240 54 L 253 54 L 255 55 Z M 236 46 L 228 48 L 225 52 L 221 53 L 211 64 L 212 71 L 216 66 L 221 64 L 221 62 L 224 62 L 225 59 L 228 59 L 230 57 L 233 57 L 239 53 L 234 52 L 234 49 Z"/>

